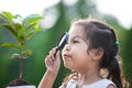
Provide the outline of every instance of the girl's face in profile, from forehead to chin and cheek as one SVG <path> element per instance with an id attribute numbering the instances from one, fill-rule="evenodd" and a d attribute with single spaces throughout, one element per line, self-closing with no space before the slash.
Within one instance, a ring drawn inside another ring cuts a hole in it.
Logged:
<path id="1" fill-rule="evenodd" d="M 87 53 L 88 44 L 85 41 L 85 34 L 81 26 L 72 26 L 69 30 L 69 40 L 65 45 L 62 56 L 65 67 L 78 72 L 84 72 L 91 64 L 90 53 Z"/>

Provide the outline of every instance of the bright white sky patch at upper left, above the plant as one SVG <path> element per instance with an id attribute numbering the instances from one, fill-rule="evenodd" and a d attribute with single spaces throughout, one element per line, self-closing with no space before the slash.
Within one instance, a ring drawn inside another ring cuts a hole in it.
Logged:
<path id="1" fill-rule="evenodd" d="M 42 14 L 44 9 L 52 7 L 59 0 L 0 0 L 0 11 L 10 11 L 13 14 Z"/>

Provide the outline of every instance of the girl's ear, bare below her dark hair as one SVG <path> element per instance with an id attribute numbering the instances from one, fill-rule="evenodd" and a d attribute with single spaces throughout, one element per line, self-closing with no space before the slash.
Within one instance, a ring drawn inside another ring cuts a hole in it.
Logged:
<path id="1" fill-rule="evenodd" d="M 103 50 L 102 48 L 94 48 L 90 51 L 90 54 L 92 56 L 92 59 L 101 59 L 103 56 Z"/>

